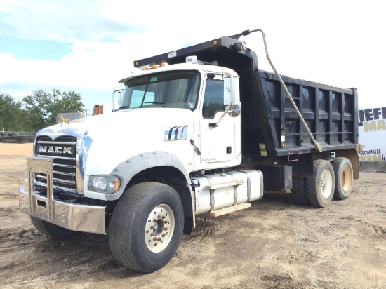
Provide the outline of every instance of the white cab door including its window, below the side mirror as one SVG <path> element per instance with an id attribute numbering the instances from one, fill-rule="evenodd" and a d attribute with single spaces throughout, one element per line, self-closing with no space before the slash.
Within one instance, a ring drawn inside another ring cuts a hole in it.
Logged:
<path id="1" fill-rule="evenodd" d="M 230 161 L 235 156 L 235 123 L 224 114 L 224 86 L 222 76 L 206 79 L 200 112 L 201 163 Z"/>

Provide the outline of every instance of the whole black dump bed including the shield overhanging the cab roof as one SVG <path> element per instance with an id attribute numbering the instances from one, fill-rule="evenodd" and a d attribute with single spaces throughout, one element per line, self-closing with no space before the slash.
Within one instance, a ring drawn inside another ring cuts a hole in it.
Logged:
<path id="1" fill-rule="evenodd" d="M 235 37 L 237 38 L 237 37 Z M 244 156 L 286 156 L 316 152 L 307 130 L 272 72 L 258 69 L 251 49 L 222 36 L 194 46 L 136 60 L 135 67 L 185 62 L 197 55 L 203 62 L 234 69 L 240 76 Z M 324 152 L 354 149 L 358 135 L 358 95 L 343 89 L 281 76 L 314 138 Z"/>

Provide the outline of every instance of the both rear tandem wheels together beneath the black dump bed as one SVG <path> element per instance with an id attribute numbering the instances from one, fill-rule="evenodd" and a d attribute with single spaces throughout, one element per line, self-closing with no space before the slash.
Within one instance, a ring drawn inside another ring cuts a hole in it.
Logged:
<path id="1" fill-rule="evenodd" d="M 353 184 L 352 164 L 347 158 L 314 161 L 309 177 L 293 176 L 292 193 L 301 205 L 317 208 L 328 206 L 332 199 L 344 200 L 350 196 Z"/>

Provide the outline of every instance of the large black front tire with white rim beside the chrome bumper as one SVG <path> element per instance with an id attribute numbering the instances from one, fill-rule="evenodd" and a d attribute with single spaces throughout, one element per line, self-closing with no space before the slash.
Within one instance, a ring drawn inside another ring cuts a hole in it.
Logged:
<path id="1" fill-rule="evenodd" d="M 112 213 L 109 244 L 114 257 L 135 271 L 164 267 L 180 245 L 182 201 L 166 184 L 142 182 L 128 189 Z"/>

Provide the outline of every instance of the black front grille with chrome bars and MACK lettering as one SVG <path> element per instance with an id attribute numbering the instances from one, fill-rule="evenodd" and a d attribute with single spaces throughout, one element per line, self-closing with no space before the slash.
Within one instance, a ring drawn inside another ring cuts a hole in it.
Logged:
<path id="1" fill-rule="evenodd" d="M 62 191 L 76 191 L 76 137 L 63 136 L 52 140 L 41 136 L 36 141 L 36 155 L 53 160 L 53 186 Z M 47 184 L 47 175 L 38 173 L 36 181 Z"/>

